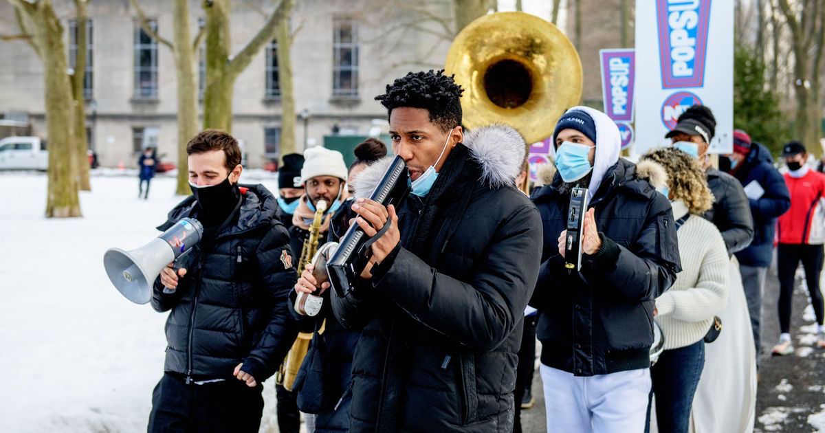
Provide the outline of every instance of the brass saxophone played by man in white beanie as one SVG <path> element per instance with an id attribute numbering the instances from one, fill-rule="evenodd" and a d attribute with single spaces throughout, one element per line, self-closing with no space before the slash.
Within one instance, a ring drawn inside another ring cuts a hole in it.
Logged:
<path id="1" fill-rule="evenodd" d="M 323 214 L 327 211 L 327 202 L 325 200 L 318 200 L 315 206 L 315 216 L 312 224 L 309 225 L 309 238 L 304 240 L 304 248 L 301 250 L 301 258 L 298 262 L 298 275 L 300 276 L 306 266 L 315 257 L 315 252 L 318 251 L 318 238 L 321 236 L 321 224 L 323 223 Z M 300 299 L 300 296 L 299 296 Z M 323 332 L 323 326 L 318 332 Z M 312 332 L 298 332 L 298 338 L 292 344 L 290 353 L 286 355 L 284 363 L 276 375 L 276 383 L 281 384 L 287 391 L 292 391 L 292 386 L 295 384 L 295 377 L 298 375 L 298 370 L 304 362 L 304 358 L 309 351 L 309 341 L 312 340 Z"/>

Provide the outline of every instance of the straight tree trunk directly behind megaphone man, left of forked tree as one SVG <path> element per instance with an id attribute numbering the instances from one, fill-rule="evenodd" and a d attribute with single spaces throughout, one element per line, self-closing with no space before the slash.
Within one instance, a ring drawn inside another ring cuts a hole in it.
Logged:
<path id="1" fill-rule="evenodd" d="M 196 47 L 189 31 L 189 2 L 172 2 L 174 54 L 177 73 L 177 189 L 178 195 L 189 195 L 189 164 L 186 144 L 198 133 L 198 92 Z"/>

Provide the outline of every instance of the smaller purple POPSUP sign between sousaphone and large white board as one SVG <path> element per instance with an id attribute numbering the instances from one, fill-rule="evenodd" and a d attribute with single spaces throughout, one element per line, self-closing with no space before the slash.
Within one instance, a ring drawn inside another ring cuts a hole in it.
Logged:
<path id="1" fill-rule="evenodd" d="M 616 122 L 632 122 L 636 75 L 634 50 L 600 49 L 599 54 L 605 114 Z"/>

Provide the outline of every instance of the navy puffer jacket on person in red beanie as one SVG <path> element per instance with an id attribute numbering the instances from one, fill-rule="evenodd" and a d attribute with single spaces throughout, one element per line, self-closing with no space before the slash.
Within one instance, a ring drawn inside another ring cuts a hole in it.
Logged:
<path id="1" fill-rule="evenodd" d="M 735 174 L 742 186 L 757 182 L 765 190 L 758 199 L 747 199 L 753 217 L 753 241 L 736 257 L 742 265 L 771 266 L 776 219 L 790 209 L 785 177 L 773 166 L 771 152 L 758 143 L 751 144 L 751 152 Z"/>

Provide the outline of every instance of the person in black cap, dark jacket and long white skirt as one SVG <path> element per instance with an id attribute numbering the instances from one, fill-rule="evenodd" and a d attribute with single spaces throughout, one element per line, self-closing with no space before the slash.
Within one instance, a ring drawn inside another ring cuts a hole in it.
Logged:
<path id="1" fill-rule="evenodd" d="M 676 127 L 665 137 L 705 170 L 714 205 L 702 216 L 719 228 L 728 257 L 732 257 L 751 243 L 753 217 L 742 184 L 710 165 L 709 148 L 715 134 L 713 111 L 706 106 L 691 106 L 679 115 Z M 693 399 L 696 431 L 747 431 L 756 416 L 757 352 L 735 257 L 728 271 L 728 304 L 719 313 L 724 330 L 718 341 L 705 347 L 705 374 Z"/>

